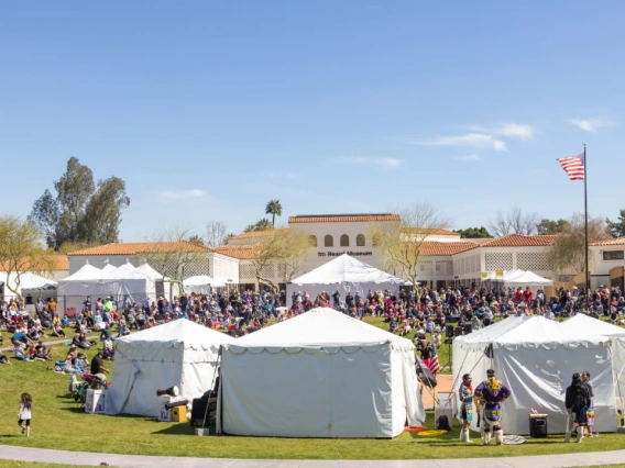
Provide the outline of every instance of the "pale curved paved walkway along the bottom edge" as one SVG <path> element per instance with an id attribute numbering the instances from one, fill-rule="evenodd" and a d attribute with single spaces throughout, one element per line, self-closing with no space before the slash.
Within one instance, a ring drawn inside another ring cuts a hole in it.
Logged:
<path id="1" fill-rule="evenodd" d="M 494 448 L 494 447 L 492 447 Z M 19 461 L 41 461 L 65 465 L 114 467 L 211 467 L 211 468 L 553 468 L 617 464 L 625 460 L 625 450 L 591 454 L 540 455 L 536 457 L 467 458 L 451 460 L 234 460 L 227 458 L 149 457 L 140 455 L 88 454 L 85 452 L 48 450 L 45 448 L 0 445 L 0 458 Z"/>

